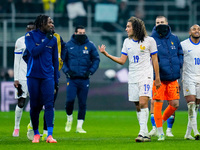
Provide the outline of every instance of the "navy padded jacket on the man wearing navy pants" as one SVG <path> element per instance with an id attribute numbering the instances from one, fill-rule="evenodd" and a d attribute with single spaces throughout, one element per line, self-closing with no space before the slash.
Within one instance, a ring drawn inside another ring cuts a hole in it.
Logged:
<path id="1" fill-rule="evenodd" d="M 71 40 L 65 45 L 65 51 L 62 53 L 63 72 L 67 74 L 73 72 L 72 78 L 85 77 L 87 71 L 92 74 L 99 67 L 99 54 L 92 42 L 85 40 L 84 44 L 80 45 L 72 35 Z"/>

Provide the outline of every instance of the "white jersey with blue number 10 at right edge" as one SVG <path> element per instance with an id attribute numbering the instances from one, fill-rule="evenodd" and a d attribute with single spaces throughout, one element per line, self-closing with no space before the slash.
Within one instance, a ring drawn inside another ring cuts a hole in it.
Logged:
<path id="1" fill-rule="evenodd" d="M 200 83 L 200 42 L 196 44 L 188 38 L 181 46 L 184 54 L 182 79 Z"/>

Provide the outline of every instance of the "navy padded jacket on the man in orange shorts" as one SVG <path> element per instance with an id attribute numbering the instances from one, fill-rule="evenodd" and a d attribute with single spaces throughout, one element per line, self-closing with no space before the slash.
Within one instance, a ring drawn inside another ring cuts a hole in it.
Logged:
<path id="1" fill-rule="evenodd" d="M 175 81 L 180 78 L 180 70 L 183 66 L 183 50 L 178 37 L 171 33 L 161 38 L 153 28 L 151 35 L 158 48 L 158 63 L 161 81 Z"/>

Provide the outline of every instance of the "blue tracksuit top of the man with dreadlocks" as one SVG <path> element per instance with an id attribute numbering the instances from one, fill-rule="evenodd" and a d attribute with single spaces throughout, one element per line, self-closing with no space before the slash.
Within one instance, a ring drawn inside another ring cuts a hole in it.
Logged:
<path id="1" fill-rule="evenodd" d="M 27 77 L 54 78 L 58 83 L 58 47 L 57 39 L 49 40 L 40 30 L 25 35 L 25 44 L 30 58 L 27 64 Z"/>

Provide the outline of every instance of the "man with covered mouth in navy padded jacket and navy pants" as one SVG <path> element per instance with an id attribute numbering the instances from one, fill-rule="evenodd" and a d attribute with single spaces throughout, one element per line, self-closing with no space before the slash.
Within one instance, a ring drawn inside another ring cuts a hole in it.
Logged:
<path id="1" fill-rule="evenodd" d="M 70 132 L 73 121 L 73 108 L 76 96 L 78 97 L 77 133 L 86 133 L 82 125 L 86 114 L 86 101 L 89 91 L 89 76 L 99 67 L 99 54 L 95 45 L 89 41 L 84 26 L 77 26 L 71 40 L 65 45 L 62 54 L 63 72 L 67 77 L 66 113 L 67 122 L 65 131 Z"/>

